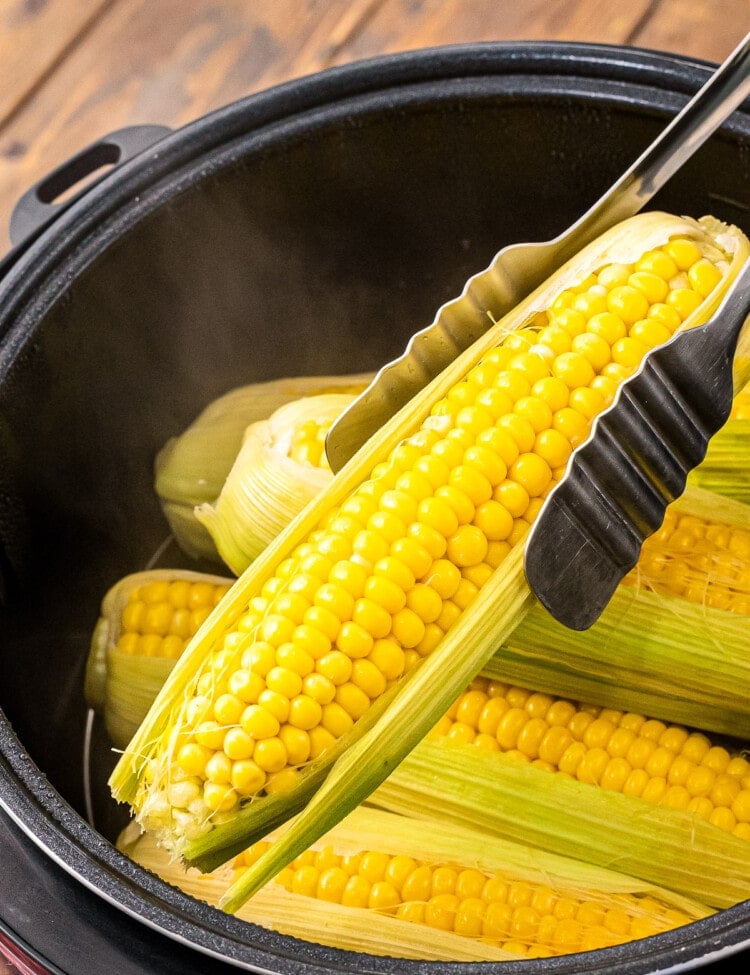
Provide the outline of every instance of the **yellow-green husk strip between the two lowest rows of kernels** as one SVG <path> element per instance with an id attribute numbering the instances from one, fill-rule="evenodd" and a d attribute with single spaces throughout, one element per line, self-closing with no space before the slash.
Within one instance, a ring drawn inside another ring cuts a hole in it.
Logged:
<path id="1" fill-rule="evenodd" d="M 472 745 L 423 741 L 370 801 L 617 870 L 711 907 L 750 897 L 747 840 L 683 810 Z"/>

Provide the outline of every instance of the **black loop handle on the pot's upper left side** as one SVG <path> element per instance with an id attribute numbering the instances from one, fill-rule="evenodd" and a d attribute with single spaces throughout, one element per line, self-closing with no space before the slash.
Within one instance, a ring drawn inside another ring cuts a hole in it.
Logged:
<path id="1" fill-rule="evenodd" d="M 71 156 L 42 177 L 16 203 L 10 217 L 10 239 L 13 246 L 17 247 L 52 223 L 102 179 L 112 166 L 132 159 L 171 132 L 164 125 L 131 125 L 111 132 Z M 79 192 L 55 202 L 99 169 L 105 169 L 101 176 L 87 183 Z"/>

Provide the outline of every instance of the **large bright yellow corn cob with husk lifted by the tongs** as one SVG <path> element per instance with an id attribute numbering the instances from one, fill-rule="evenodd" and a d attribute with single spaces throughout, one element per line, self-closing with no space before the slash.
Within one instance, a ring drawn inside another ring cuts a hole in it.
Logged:
<path id="1" fill-rule="evenodd" d="M 651 345 L 705 319 L 746 253 L 708 218 L 642 214 L 478 340 L 235 584 L 115 769 L 114 794 L 178 846 L 213 827 L 193 846 L 219 855 L 290 815 L 308 769 L 357 739 L 306 815 L 319 835 L 356 805 L 522 617 L 520 543 L 592 418 Z M 448 600 L 461 614 L 446 636 Z M 360 739 L 407 672 L 387 749 L 377 725 Z M 292 796 L 264 805 L 264 790 Z M 285 837 L 245 894 L 309 842 Z"/>

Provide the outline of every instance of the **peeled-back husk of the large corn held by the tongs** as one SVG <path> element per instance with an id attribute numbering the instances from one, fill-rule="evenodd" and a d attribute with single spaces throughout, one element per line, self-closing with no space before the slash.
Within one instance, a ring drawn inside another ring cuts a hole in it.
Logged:
<path id="1" fill-rule="evenodd" d="M 710 218 L 701 225 L 665 214 L 641 214 L 586 248 L 397 413 L 243 573 L 196 634 L 114 770 L 110 785 L 115 797 L 133 805 L 145 824 L 161 828 L 163 840 L 188 859 L 192 859 L 195 852 L 191 851 L 191 845 L 200 844 L 204 866 L 211 860 L 221 862 L 228 850 L 235 849 L 243 840 L 250 842 L 258 831 L 262 835 L 268 827 L 264 822 L 263 799 L 253 800 L 237 815 L 228 814 L 226 821 L 219 825 L 203 822 L 201 827 L 206 830 L 205 835 L 194 841 L 188 838 L 187 843 L 184 832 L 180 835 L 185 824 L 179 824 L 180 830 L 175 830 L 174 824 L 165 823 L 163 815 L 170 751 L 179 734 L 180 710 L 191 696 L 205 661 L 227 627 L 238 619 L 249 599 L 260 591 L 276 566 L 308 537 L 332 507 L 340 504 L 388 456 L 396 444 L 418 429 L 433 404 L 503 335 L 547 307 L 560 288 L 578 280 L 582 271 L 585 273 L 585 270 L 611 261 L 629 261 L 634 251 L 640 254 L 673 234 L 700 235 L 707 229 L 714 239 L 717 234 L 722 237 L 731 255 L 723 281 L 723 287 L 726 287 L 748 253 L 748 242 L 739 232 L 718 225 Z M 722 293 L 723 288 L 716 289 L 687 320 L 686 327 L 710 314 Z M 743 363 L 750 365 L 750 358 L 747 361 L 743 358 Z M 522 546 L 517 545 L 480 590 L 471 610 L 463 614 L 433 653 L 397 685 L 393 700 L 384 713 L 351 743 L 328 772 L 323 785 L 295 821 L 294 828 L 243 876 L 241 890 L 233 896 L 234 907 L 251 897 L 286 863 L 363 801 L 425 736 L 469 679 L 486 664 L 496 647 L 507 640 L 532 603 L 523 573 L 522 555 Z M 304 772 L 300 778 L 304 779 Z M 289 815 L 298 808 L 298 798 L 294 794 L 287 797 Z"/>

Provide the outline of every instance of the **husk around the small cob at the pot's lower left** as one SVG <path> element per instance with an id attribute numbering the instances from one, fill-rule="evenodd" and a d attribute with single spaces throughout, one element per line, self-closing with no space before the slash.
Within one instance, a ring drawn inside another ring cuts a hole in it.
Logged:
<path id="1" fill-rule="evenodd" d="M 130 594 L 147 583 L 166 579 L 228 586 L 231 579 L 184 569 L 150 569 L 124 576 L 102 599 L 86 660 L 86 703 L 104 718 L 112 743 L 124 748 L 138 729 L 169 676 L 175 661 L 123 653 L 117 648 L 122 610 Z"/>

